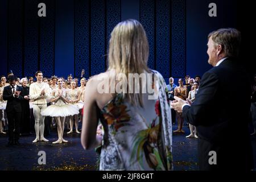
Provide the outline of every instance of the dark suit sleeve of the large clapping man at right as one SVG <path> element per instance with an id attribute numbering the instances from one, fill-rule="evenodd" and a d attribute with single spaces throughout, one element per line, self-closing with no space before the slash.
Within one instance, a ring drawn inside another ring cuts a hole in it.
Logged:
<path id="1" fill-rule="evenodd" d="M 183 118 L 194 126 L 204 125 L 213 112 L 218 84 L 218 76 L 215 73 L 205 73 L 196 100 L 191 106 L 183 107 Z"/>

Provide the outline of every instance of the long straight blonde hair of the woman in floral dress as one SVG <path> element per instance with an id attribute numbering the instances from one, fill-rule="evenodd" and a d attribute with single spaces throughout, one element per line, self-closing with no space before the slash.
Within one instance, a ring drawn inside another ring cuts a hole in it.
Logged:
<path id="1" fill-rule="evenodd" d="M 148 53 L 148 40 L 142 24 L 134 19 L 120 22 L 111 33 L 108 70 L 114 69 L 115 74 L 123 73 L 127 78 L 129 73 L 139 75 L 144 72 L 150 73 L 147 67 Z M 141 88 L 141 82 L 139 85 Z M 125 93 L 123 96 L 132 105 L 143 106 L 141 92 L 139 94 Z"/>

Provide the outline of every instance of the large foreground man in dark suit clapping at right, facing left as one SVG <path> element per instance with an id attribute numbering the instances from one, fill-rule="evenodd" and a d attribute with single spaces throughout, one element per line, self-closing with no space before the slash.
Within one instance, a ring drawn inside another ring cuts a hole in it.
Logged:
<path id="1" fill-rule="evenodd" d="M 234 28 L 210 33 L 208 63 L 214 68 L 204 74 L 193 103 L 175 97 L 176 101 L 171 104 L 197 127 L 201 170 L 253 168 L 248 130 L 250 81 L 236 58 L 240 42 L 241 34 Z M 232 89 L 237 82 L 243 83 L 242 89 Z"/>

